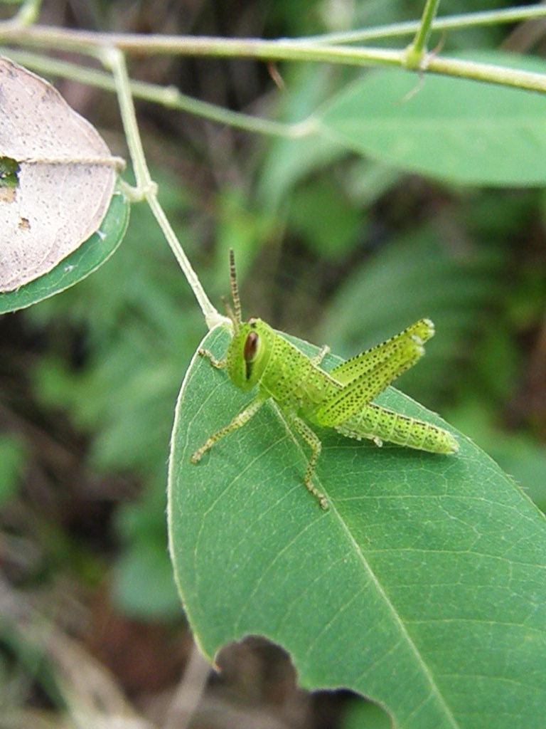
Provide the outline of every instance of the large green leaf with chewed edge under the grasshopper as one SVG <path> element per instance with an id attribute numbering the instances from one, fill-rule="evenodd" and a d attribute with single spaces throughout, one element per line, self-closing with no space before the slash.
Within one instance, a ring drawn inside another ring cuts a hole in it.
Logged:
<path id="1" fill-rule="evenodd" d="M 228 336 L 203 346 L 221 356 Z M 170 550 L 205 654 L 261 634 L 301 685 L 349 687 L 400 728 L 542 729 L 546 523 L 529 499 L 462 436 L 438 456 L 322 431 L 325 512 L 268 406 L 191 464 L 248 399 L 196 357 L 176 408 Z M 440 422 L 394 389 L 378 401 Z"/>

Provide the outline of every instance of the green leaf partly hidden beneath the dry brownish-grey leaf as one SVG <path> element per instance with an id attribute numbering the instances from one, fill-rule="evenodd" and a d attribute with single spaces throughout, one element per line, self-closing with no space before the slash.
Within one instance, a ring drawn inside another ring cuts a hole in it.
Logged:
<path id="1" fill-rule="evenodd" d="M 58 294 L 103 265 L 123 240 L 129 223 L 129 210 L 127 197 L 121 190 L 115 190 L 98 230 L 48 273 L 15 291 L 0 293 L 0 313 L 17 311 Z"/>

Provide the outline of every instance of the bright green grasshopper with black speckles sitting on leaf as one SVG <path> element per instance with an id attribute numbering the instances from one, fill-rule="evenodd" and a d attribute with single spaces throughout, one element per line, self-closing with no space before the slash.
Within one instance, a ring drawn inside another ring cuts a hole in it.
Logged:
<path id="1" fill-rule="evenodd" d="M 200 461 L 217 440 L 248 423 L 269 399 L 277 403 L 288 424 L 311 449 L 304 483 L 323 508 L 328 506 L 327 499 L 313 483 L 321 443 L 306 421 L 336 429 L 349 438 L 369 438 L 376 445 L 387 440 L 430 453 L 459 450 L 454 436 L 443 428 L 371 402 L 424 354 L 424 343 L 434 335 L 430 319 L 419 319 L 386 342 L 326 372 L 320 363 L 330 351 L 327 346 L 309 357 L 265 321 L 242 321 L 233 251 L 229 252 L 229 273 L 233 308 L 225 300 L 223 304 L 233 324 L 233 338 L 223 359 L 216 359 L 206 349 L 199 349 L 199 354 L 213 367 L 225 367 L 236 387 L 250 390 L 257 386 L 258 392 L 229 424 L 191 454 L 193 463 Z"/>

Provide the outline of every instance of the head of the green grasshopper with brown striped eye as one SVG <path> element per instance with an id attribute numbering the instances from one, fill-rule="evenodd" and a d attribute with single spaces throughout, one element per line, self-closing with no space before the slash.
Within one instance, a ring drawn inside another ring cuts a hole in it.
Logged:
<path id="1" fill-rule="evenodd" d="M 250 390 L 260 381 L 269 362 L 274 331 L 261 319 L 242 321 L 226 352 L 226 371 L 236 387 Z"/>

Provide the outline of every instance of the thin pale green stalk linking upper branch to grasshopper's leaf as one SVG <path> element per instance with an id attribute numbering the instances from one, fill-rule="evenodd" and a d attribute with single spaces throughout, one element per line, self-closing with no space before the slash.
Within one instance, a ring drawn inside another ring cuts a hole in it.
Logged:
<path id="1" fill-rule="evenodd" d="M 178 261 L 178 265 L 180 265 L 183 270 L 184 276 L 186 276 L 186 280 L 191 286 L 191 290 L 194 292 L 197 303 L 199 303 L 201 311 L 205 316 L 207 326 L 209 329 L 212 329 L 218 324 L 222 324 L 226 321 L 226 319 L 221 316 L 218 311 L 216 311 L 213 304 L 210 303 L 210 300 L 205 293 L 205 289 L 203 289 L 201 285 L 201 281 L 199 281 L 197 274 L 191 267 L 191 263 L 186 257 L 180 241 L 178 241 L 173 227 L 170 225 L 170 222 L 165 215 L 165 211 L 157 199 L 157 184 L 155 184 L 151 179 L 148 165 L 146 164 L 146 157 L 144 156 L 141 135 L 138 131 L 135 106 L 132 102 L 129 77 L 127 76 L 124 56 L 121 51 L 115 48 L 101 49 L 98 52 L 98 56 L 100 60 L 111 69 L 114 76 L 119 109 L 122 114 L 123 127 L 127 138 L 127 146 L 129 147 L 132 166 L 135 170 L 135 178 L 137 182 L 136 192 L 138 193 L 138 196 L 144 198 L 149 204 L 163 235 L 165 235 L 165 238 L 167 239 L 167 243 L 169 243 L 170 249 L 173 251 L 175 258 Z"/>

